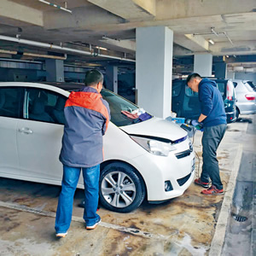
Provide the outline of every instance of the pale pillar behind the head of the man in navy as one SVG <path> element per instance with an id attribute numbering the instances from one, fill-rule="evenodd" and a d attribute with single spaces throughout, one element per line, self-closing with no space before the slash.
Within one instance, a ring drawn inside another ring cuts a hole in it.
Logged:
<path id="1" fill-rule="evenodd" d="M 212 76 L 212 55 L 194 55 L 194 72 L 201 77 Z"/>

